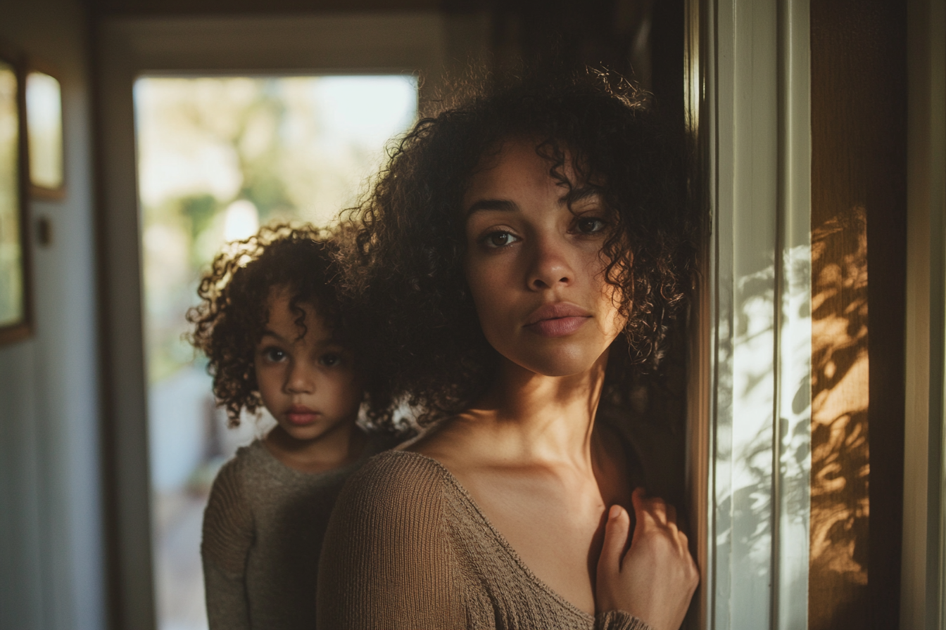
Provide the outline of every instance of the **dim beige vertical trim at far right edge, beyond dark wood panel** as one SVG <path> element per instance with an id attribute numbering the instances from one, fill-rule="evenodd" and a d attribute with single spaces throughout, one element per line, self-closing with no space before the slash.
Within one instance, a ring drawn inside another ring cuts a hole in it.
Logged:
<path id="1" fill-rule="evenodd" d="M 907 5 L 900 627 L 946 627 L 946 1 Z"/>

